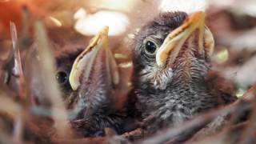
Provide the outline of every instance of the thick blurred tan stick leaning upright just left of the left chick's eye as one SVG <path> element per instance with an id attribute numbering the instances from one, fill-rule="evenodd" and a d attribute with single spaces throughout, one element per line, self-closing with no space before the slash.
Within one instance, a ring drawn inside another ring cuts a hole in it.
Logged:
<path id="1" fill-rule="evenodd" d="M 58 138 L 70 138 L 72 134 L 70 134 L 71 129 L 67 121 L 65 106 L 62 101 L 61 93 L 58 90 L 58 84 L 54 78 L 54 58 L 46 36 L 46 28 L 43 26 L 42 22 L 35 22 L 34 32 L 36 34 L 38 54 L 40 56 L 39 64 L 42 66 L 42 74 L 44 74 L 42 83 L 45 87 L 47 97 L 50 99 L 50 102 L 52 102 L 52 117 L 55 122 Z"/>

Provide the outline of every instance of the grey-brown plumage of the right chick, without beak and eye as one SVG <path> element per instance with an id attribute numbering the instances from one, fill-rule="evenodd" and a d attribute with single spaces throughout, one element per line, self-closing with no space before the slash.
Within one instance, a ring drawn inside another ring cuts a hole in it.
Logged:
<path id="1" fill-rule="evenodd" d="M 182 12 L 160 14 L 134 38 L 134 94 L 150 133 L 236 99 L 210 84 L 210 58 L 198 53 L 196 33 L 186 40 L 175 62 L 167 62 L 166 67 L 158 67 L 155 55 L 144 52 L 145 38 L 154 38 L 161 46 L 166 35 L 181 26 L 186 17 Z"/>

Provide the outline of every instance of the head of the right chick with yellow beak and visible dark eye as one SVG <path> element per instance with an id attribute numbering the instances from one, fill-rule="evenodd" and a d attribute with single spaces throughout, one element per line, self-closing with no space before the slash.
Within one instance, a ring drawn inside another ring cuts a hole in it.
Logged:
<path id="1" fill-rule="evenodd" d="M 213 50 L 204 12 L 160 14 L 134 38 L 135 85 L 165 90 L 171 83 L 200 81 Z"/>

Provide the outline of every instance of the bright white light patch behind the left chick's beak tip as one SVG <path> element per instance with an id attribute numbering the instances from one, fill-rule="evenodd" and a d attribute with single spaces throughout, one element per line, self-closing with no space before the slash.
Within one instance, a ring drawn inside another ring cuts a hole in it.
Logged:
<path id="1" fill-rule="evenodd" d="M 110 36 L 120 35 L 126 31 L 129 19 L 126 14 L 98 11 L 95 14 L 87 14 L 84 18 L 79 18 L 74 25 L 74 29 L 84 35 L 95 35 L 102 29 L 102 26 L 110 27 Z"/>

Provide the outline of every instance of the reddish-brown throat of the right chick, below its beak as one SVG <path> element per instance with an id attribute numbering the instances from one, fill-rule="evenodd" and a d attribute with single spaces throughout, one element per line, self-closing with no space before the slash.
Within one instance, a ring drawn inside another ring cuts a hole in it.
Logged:
<path id="1" fill-rule="evenodd" d="M 199 54 L 198 46 L 194 44 L 193 37 L 182 47 L 172 68 L 174 70 L 174 82 L 200 83 L 205 81 L 210 70 L 210 64 L 203 54 Z"/>

